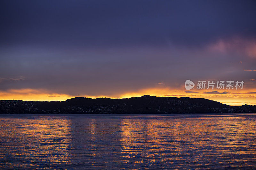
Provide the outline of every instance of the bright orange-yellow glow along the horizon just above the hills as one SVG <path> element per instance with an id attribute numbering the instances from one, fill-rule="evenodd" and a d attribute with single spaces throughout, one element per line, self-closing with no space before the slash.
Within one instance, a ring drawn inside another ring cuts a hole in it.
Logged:
<path id="1" fill-rule="evenodd" d="M 98 97 L 109 97 L 109 98 L 130 98 L 130 97 L 139 97 L 143 95 L 158 96 L 158 97 L 193 97 L 193 98 L 205 98 L 209 100 L 218 101 L 228 105 L 256 105 L 256 94 L 247 93 L 248 90 L 239 90 L 239 93 L 236 94 L 237 90 L 228 90 L 228 94 L 220 93 L 203 93 L 206 90 L 191 90 L 190 93 L 185 92 L 186 90 L 181 89 L 171 89 L 169 87 L 159 88 L 147 88 L 141 89 L 137 92 L 125 92 L 122 94 L 113 94 L 112 96 L 89 96 L 83 95 L 79 97 L 88 97 L 88 98 L 98 98 Z M 207 90 L 213 91 L 213 90 Z M 227 90 L 219 91 L 224 92 Z M 255 92 L 256 89 L 250 89 L 251 92 Z M 194 93 L 192 93 L 194 92 Z M 72 96 L 68 94 L 52 93 L 44 89 L 10 89 L 7 91 L 0 91 L 0 100 L 24 100 L 24 101 L 64 101 L 70 98 L 78 96 Z"/>

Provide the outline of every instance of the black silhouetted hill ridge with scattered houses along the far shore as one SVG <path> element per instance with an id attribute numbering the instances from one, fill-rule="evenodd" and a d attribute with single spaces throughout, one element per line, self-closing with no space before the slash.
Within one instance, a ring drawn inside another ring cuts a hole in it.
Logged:
<path id="1" fill-rule="evenodd" d="M 0 100 L 0 113 L 256 113 L 256 106 L 229 106 L 217 101 L 189 97 L 144 95 L 129 99 L 75 97 L 66 101 Z"/>

